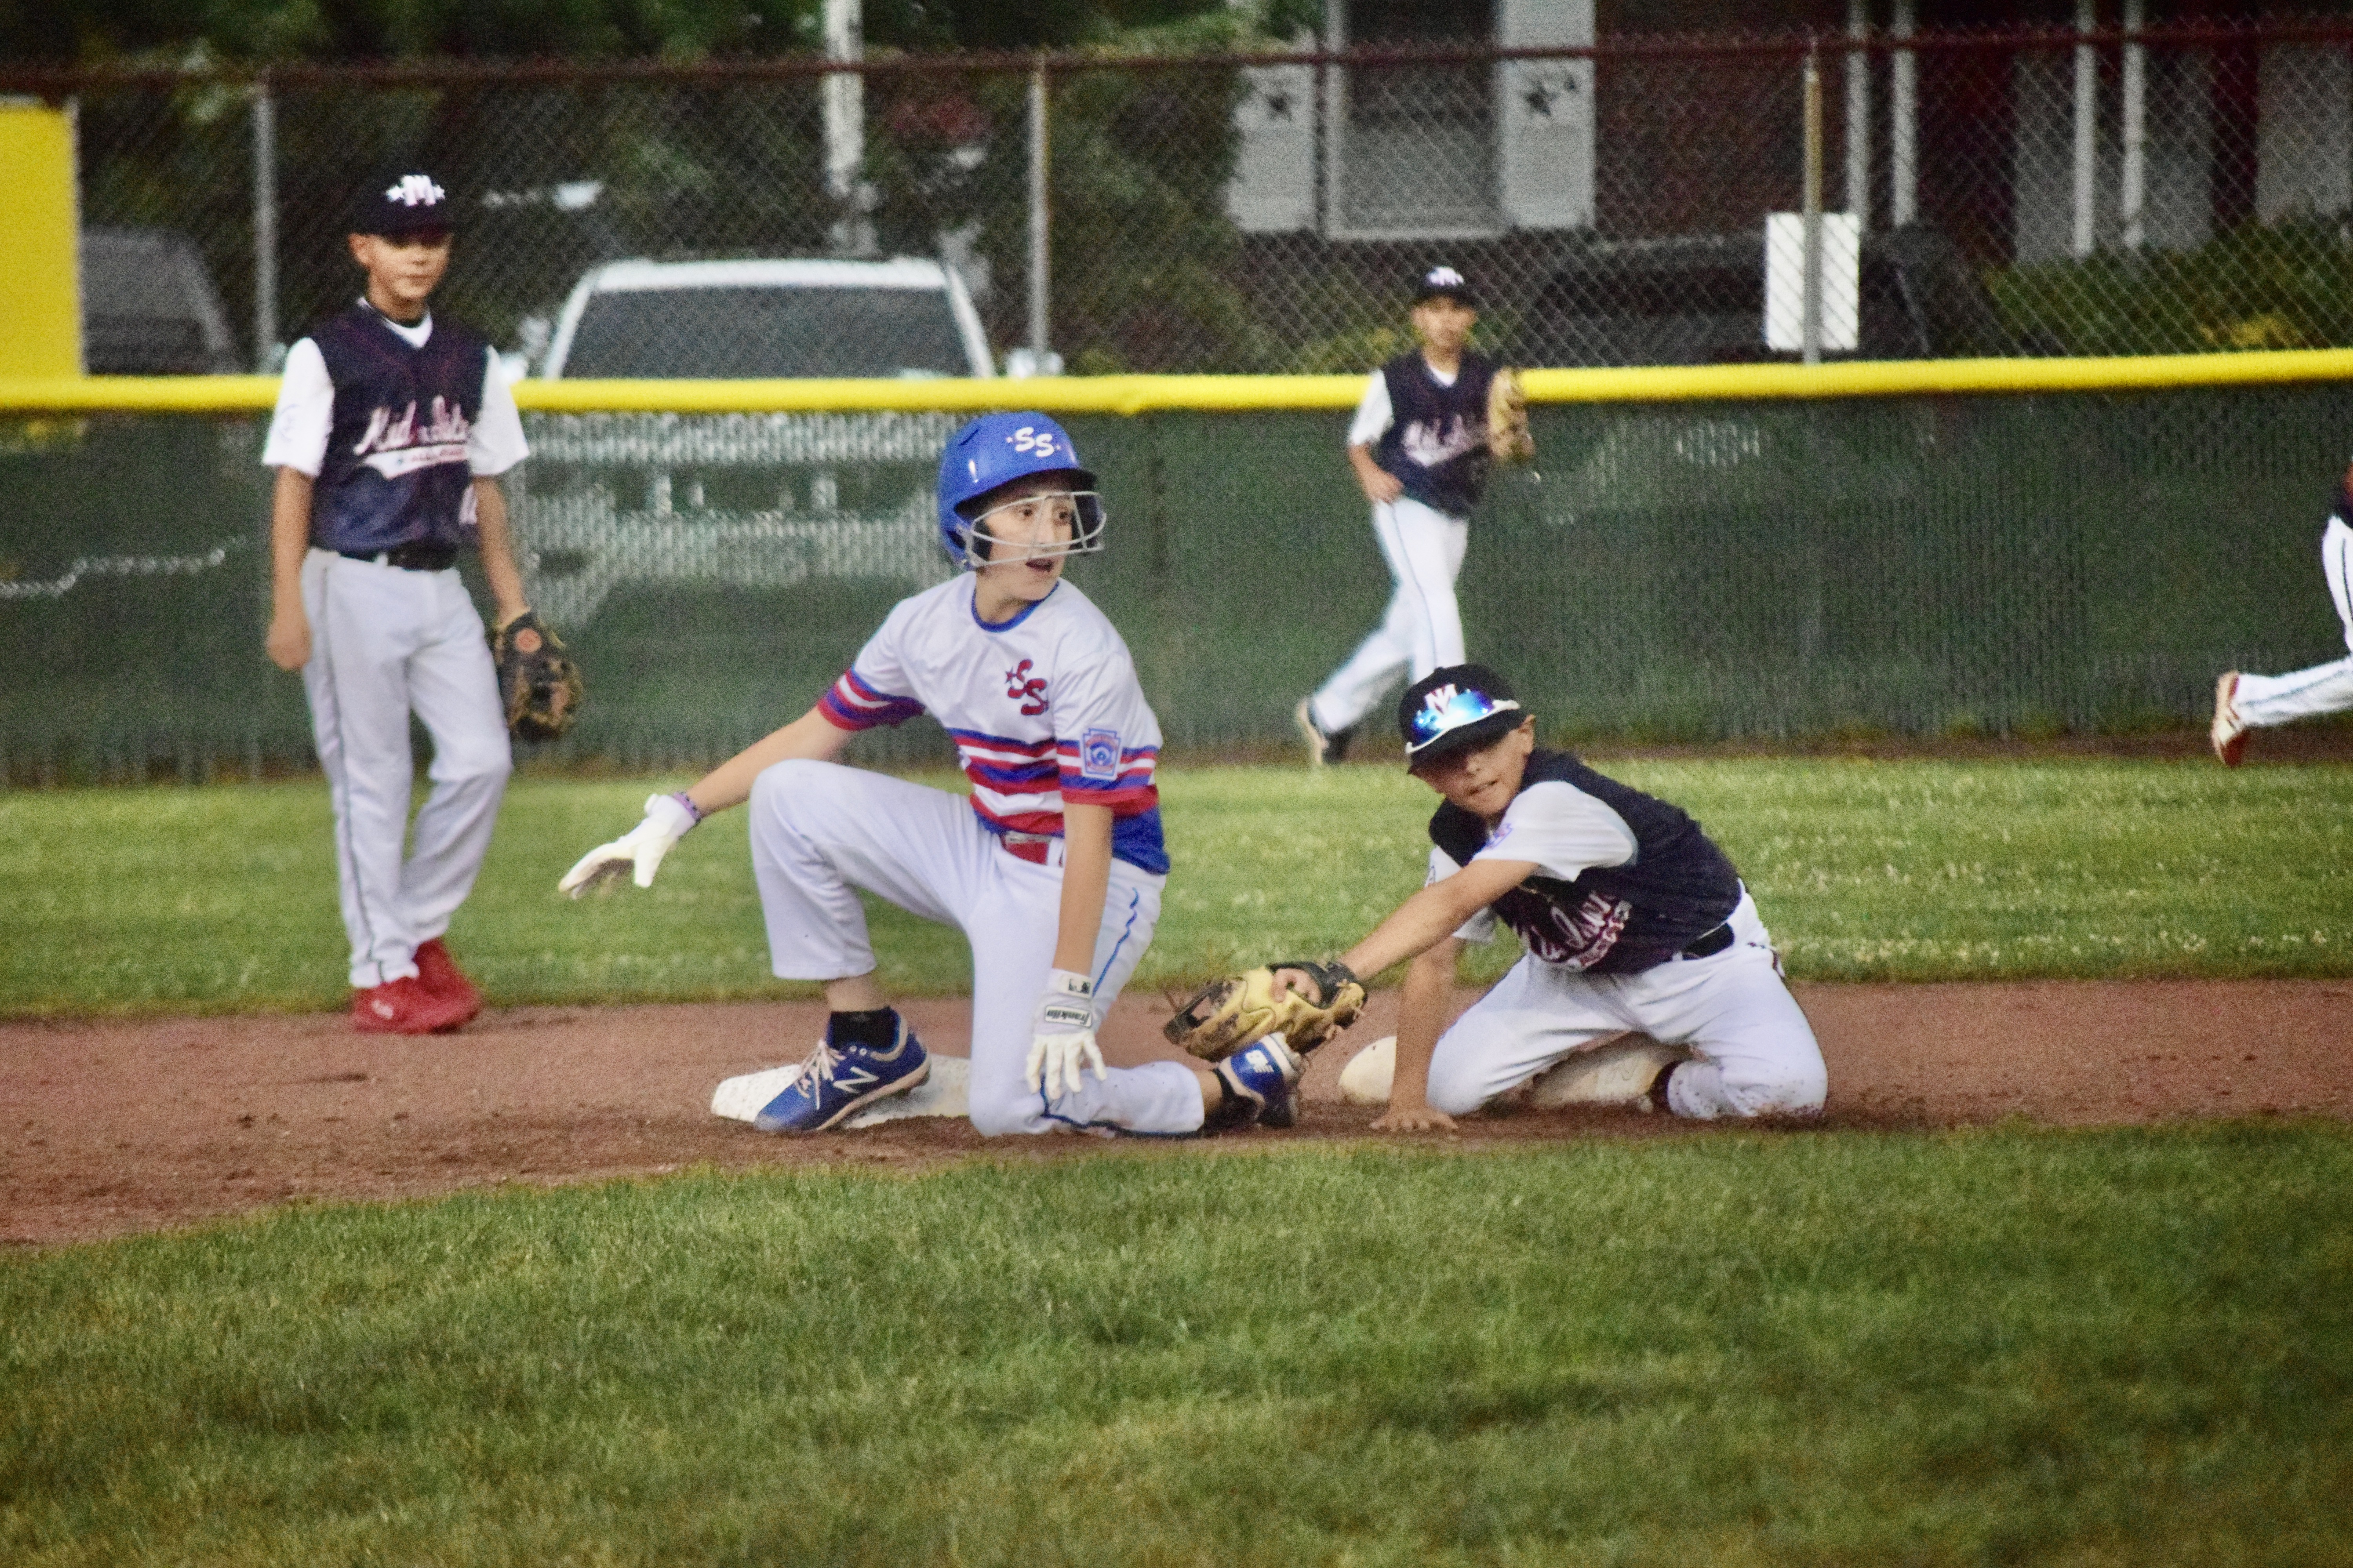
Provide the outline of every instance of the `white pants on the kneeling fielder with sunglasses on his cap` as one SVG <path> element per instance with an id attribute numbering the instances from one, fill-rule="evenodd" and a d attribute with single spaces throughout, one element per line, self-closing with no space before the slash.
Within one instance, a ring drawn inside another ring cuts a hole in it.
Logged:
<path id="1" fill-rule="evenodd" d="M 1461 1117 L 1581 1046 L 1635 1030 L 1694 1060 L 1666 1084 L 1678 1117 L 1819 1112 L 1831 1079 L 1781 980 L 1755 900 L 1741 893 L 1732 945 L 1631 976 L 1586 976 L 1525 957 L 1454 1020 L 1431 1058 L 1431 1105 Z"/>

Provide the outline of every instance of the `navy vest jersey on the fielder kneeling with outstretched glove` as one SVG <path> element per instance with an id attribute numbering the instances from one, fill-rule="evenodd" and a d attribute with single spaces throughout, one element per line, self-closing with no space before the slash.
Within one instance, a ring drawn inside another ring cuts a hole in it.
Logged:
<path id="1" fill-rule="evenodd" d="M 1605 778 L 1567 752 L 1537 748 L 1520 792 L 1567 783 L 1624 818 L 1635 837 L 1626 865 L 1593 865 L 1574 882 L 1527 877 L 1494 900 L 1494 914 L 1548 964 L 1621 976 L 1664 964 L 1725 924 L 1741 900 L 1732 860 L 1678 806 Z M 1487 844 L 1487 823 L 1447 802 L 1431 818 L 1431 842 L 1457 865 Z"/>

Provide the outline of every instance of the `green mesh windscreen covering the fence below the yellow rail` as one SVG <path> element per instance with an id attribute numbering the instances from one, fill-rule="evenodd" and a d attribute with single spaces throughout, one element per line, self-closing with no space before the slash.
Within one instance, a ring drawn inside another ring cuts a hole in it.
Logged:
<path id="1" fill-rule="evenodd" d="M 527 416 L 532 597 L 588 708 L 560 750 L 708 762 L 800 715 L 946 576 L 936 414 Z M 1174 748 L 1282 743 L 1388 574 L 1341 411 L 1068 418 L 1108 550 L 1071 576 Z M 261 656 L 259 421 L 0 425 L 7 776 L 308 759 Z M 2200 719 L 2224 668 L 2344 654 L 2318 536 L 2353 388 L 1562 404 L 1471 531 L 1471 656 L 1548 731 L 1805 738 Z M 929 722 L 866 755 L 936 750 Z"/>

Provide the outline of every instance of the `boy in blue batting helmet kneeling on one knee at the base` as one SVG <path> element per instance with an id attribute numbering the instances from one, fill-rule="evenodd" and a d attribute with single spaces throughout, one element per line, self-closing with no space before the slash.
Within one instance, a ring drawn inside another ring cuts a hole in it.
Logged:
<path id="1" fill-rule="evenodd" d="M 1153 769 L 1160 722 L 1111 621 L 1061 578 L 1096 550 L 1104 508 L 1045 414 L 991 414 L 948 442 L 939 531 L 965 567 L 901 599 L 802 717 L 656 795 L 562 891 L 661 856 L 711 811 L 751 802 L 751 856 L 774 973 L 821 980 L 826 1039 L 753 1124 L 838 1126 L 925 1081 L 929 1060 L 875 985 L 856 889 L 972 943 L 972 1126 L 981 1133 L 1198 1133 L 1287 1124 L 1299 1058 L 1261 1041 L 1214 1072 L 1106 1070 L 1094 1044 L 1160 922 L 1167 851 Z M 934 715 L 972 799 L 833 762 L 852 733 Z"/>

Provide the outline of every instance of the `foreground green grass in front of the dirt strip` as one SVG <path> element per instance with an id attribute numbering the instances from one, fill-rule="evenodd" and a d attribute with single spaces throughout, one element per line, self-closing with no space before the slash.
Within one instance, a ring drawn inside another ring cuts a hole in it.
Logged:
<path id="1" fill-rule="evenodd" d="M 2337 1126 L 685 1175 L 0 1262 L 0 1561 L 2344 1563 Z"/>

